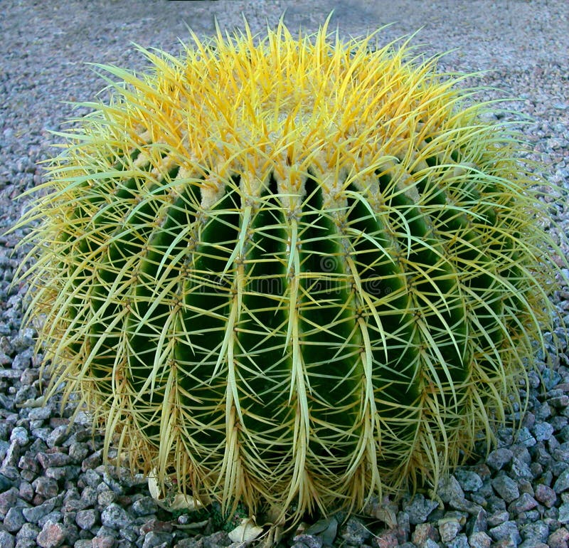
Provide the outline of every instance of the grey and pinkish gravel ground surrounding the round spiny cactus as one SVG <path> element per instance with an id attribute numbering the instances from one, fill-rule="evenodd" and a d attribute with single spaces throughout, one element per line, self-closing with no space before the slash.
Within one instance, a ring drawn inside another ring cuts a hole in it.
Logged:
<path id="1" fill-rule="evenodd" d="M 370 7 L 373 6 L 373 7 Z M 389 41 L 422 27 L 415 43 L 432 54 L 457 48 L 443 70 L 490 70 L 481 98 L 508 97 L 506 118 L 522 127 L 531 157 L 546 179 L 569 191 L 569 9 L 565 0 L 474 1 L 145 1 L 2 0 L 0 30 L 0 235 L 25 207 L 14 201 L 42 180 L 37 162 L 70 116 L 69 101 L 93 98 L 104 83 L 85 65 L 117 63 L 140 69 L 131 43 L 179 51 L 191 26 L 198 35 L 247 17 L 252 31 L 274 25 L 285 9 L 291 28 L 316 30 L 334 8 L 332 26 L 356 36 L 393 22 Z M 499 88 L 501 91 L 496 91 Z M 514 98 L 516 98 L 514 100 Z M 552 191 L 543 198 L 552 201 Z M 565 196 L 551 206 L 561 235 L 569 233 Z M 87 416 L 73 428 L 73 406 L 38 405 L 41 393 L 33 330 L 21 329 L 24 287 L 13 280 L 22 257 L 13 255 L 20 232 L 0 236 L 0 548 L 228 546 L 215 512 L 175 516 L 156 507 L 144 478 L 117 476 L 101 461 L 100 436 Z M 562 252 L 568 247 L 562 243 Z M 569 543 L 569 354 L 561 330 L 569 325 L 569 292 L 555 294 L 561 348 L 538 356 L 529 409 L 521 430 L 498 432 L 486 458 L 459 468 L 440 486 L 441 501 L 426 494 L 371 505 L 366 515 L 335 520 L 289 536 L 283 546 L 566 548 Z M 550 366 L 550 367 L 546 367 Z M 442 504 L 440 504 L 442 503 Z M 239 544 L 233 544 L 238 546 Z"/>

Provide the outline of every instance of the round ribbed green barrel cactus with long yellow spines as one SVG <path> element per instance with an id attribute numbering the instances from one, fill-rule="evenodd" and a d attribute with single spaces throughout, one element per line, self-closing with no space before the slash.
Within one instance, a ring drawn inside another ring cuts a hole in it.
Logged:
<path id="1" fill-rule="evenodd" d="M 436 485 L 551 329 L 519 139 L 406 44 L 193 39 L 100 67 L 110 100 L 23 216 L 52 391 L 202 502 L 300 517 Z"/>

